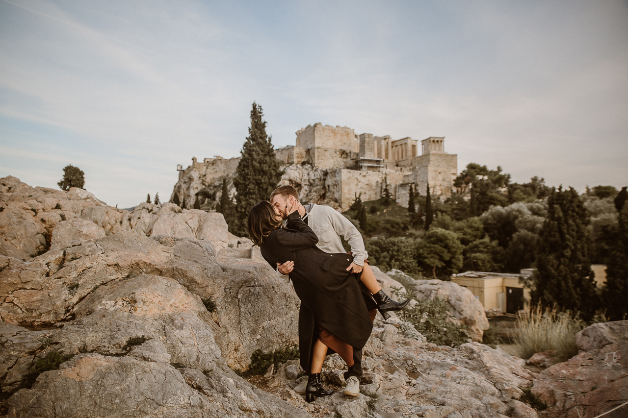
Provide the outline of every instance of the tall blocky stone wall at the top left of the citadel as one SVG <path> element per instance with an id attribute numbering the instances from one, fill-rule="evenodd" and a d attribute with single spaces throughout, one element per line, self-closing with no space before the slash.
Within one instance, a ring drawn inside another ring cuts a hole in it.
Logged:
<path id="1" fill-rule="evenodd" d="M 330 148 L 357 153 L 355 131 L 349 127 L 323 125 L 320 122 L 296 131 L 296 146 Z"/>

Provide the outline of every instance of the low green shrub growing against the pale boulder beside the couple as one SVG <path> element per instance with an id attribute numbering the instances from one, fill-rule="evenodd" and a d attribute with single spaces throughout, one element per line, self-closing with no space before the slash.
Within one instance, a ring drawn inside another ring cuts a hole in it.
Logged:
<path id="1" fill-rule="evenodd" d="M 469 335 L 465 331 L 465 326 L 455 322 L 452 314 L 449 313 L 449 305 L 445 299 L 436 296 L 434 299 L 417 299 L 411 294 L 399 294 L 398 289 L 393 291 L 399 299 L 411 297 L 417 303 L 403 311 L 399 311 L 399 316 L 404 321 L 413 324 L 414 328 L 425 336 L 428 343 L 436 345 L 448 345 L 457 347 L 469 341 Z"/>

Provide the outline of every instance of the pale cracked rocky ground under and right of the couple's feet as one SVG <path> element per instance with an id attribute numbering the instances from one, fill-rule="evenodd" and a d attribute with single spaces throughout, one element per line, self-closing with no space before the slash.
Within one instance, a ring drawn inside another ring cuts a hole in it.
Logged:
<path id="1" fill-rule="evenodd" d="M 317 399 L 314 405 L 340 417 L 380 417 L 398 412 L 402 417 L 528 417 L 536 411 L 517 399 L 529 388 L 534 375 L 520 358 L 479 343 L 458 348 L 436 346 L 406 338 L 396 319 L 376 321 L 364 350 L 365 368 L 357 399 L 341 393 Z M 276 371 L 271 387 L 295 387 L 293 362 Z M 344 385 L 343 362 L 333 355 L 325 360 L 323 380 L 332 387 Z M 291 391 L 275 389 L 298 406 L 303 400 Z"/>

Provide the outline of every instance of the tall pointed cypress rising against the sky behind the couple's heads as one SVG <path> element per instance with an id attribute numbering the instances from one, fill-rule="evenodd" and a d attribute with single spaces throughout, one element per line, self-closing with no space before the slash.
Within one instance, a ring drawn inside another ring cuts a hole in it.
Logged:
<path id="1" fill-rule="evenodd" d="M 237 164 L 235 218 L 229 229 L 235 235 L 247 235 L 249 210 L 259 201 L 268 200 L 281 180 L 281 170 L 271 137 L 266 135 L 266 122 L 262 120 L 262 107 L 253 102 L 249 136 L 242 146 L 242 158 Z"/>

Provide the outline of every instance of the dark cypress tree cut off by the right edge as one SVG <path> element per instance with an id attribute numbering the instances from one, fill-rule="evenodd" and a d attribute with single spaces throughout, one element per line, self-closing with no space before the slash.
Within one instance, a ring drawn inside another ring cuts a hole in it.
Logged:
<path id="1" fill-rule="evenodd" d="M 625 187 L 622 188 L 622 191 L 625 190 Z M 617 242 L 607 262 L 606 285 L 602 291 L 606 315 L 611 321 L 628 318 L 628 304 L 625 301 L 628 295 L 628 205 L 617 206 L 620 206 Z"/>

